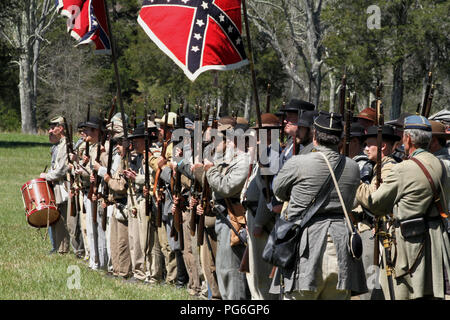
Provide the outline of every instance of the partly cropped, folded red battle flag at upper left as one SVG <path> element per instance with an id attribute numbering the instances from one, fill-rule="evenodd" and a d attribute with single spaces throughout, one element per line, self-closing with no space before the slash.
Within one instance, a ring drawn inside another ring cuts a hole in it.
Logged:
<path id="1" fill-rule="evenodd" d="M 67 19 L 67 32 L 80 44 L 95 44 L 95 53 L 111 53 L 104 0 L 56 0 Z"/>

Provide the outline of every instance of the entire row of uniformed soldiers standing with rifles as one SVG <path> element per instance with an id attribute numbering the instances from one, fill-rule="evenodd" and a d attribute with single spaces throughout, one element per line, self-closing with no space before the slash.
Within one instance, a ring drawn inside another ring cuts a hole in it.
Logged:
<path id="1" fill-rule="evenodd" d="M 450 134 L 408 116 L 382 126 L 380 149 L 374 115 L 354 117 L 348 157 L 342 116 L 299 99 L 254 127 L 168 108 L 130 132 L 120 113 L 90 117 L 75 145 L 56 117 L 51 169 L 41 174 L 61 212 L 52 252 L 72 247 L 108 277 L 209 299 L 443 299 Z M 287 238 L 286 222 L 299 230 L 294 262 L 274 266 L 266 253 L 274 237 Z"/>

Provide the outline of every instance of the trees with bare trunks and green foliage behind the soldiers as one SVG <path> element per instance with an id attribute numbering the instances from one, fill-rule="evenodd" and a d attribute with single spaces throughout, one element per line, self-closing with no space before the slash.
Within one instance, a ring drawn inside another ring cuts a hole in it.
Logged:
<path id="1" fill-rule="evenodd" d="M 161 113 L 169 95 L 193 112 L 254 120 L 250 71 L 205 72 L 195 82 L 162 53 L 136 22 L 142 1 L 109 0 L 125 110 Z M 432 112 L 450 102 L 450 2 L 445 0 L 247 0 L 257 89 L 272 111 L 292 97 L 337 111 L 344 73 L 359 110 L 383 82 L 387 119 L 414 112 L 426 76 L 436 85 Z M 245 37 L 245 35 L 244 35 Z M 49 117 L 74 125 L 109 109 L 116 94 L 111 58 L 74 47 L 52 0 L 0 3 L 0 130 L 36 133 Z"/>

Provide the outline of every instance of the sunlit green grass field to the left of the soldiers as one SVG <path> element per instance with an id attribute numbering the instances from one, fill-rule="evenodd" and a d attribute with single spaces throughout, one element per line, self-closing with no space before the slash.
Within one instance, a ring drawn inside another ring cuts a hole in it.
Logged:
<path id="1" fill-rule="evenodd" d="M 47 136 L 0 133 L 0 300 L 190 299 L 185 289 L 106 278 L 73 254 L 48 255 L 46 229 L 28 225 L 20 188 L 50 164 L 50 146 Z"/>

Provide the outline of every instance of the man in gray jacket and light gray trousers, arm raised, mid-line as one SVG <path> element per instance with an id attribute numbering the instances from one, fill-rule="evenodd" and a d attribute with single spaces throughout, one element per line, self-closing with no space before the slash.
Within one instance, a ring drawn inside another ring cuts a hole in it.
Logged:
<path id="1" fill-rule="evenodd" d="M 231 133 L 228 132 L 227 139 L 221 141 L 216 148 L 216 153 L 231 152 L 232 158 L 224 157 L 214 163 L 205 159 L 203 166 L 204 174 L 212 190 L 213 212 L 216 213 L 216 273 L 219 291 L 224 300 L 246 300 L 249 298 L 245 274 L 238 270 L 245 245 L 240 241 L 232 243 L 235 234 L 231 230 L 231 225 L 241 236 L 242 229 L 245 229 L 245 224 L 242 225 L 241 223 L 245 210 L 240 203 L 240 193 L 244 187 L 250 166 L 248 154 L 244 150 L 236 148 L 234 134 L 232 134 L 235 123 L 232 117 L 219 119 L 218 131 L 225 134 L 229 130 Z M 197 206 L 197 212 L 203 214 L 200 205 Z M 231 213 L 238 218 L 237 224 L 231 223 L 234 219 L 231 217 Z M 236 228 L 238 224 L 241 228 Z"/>

